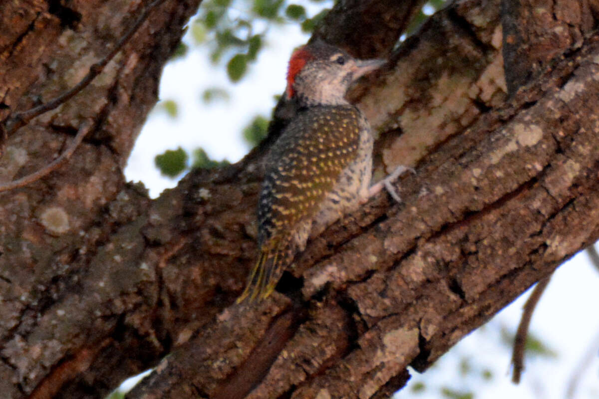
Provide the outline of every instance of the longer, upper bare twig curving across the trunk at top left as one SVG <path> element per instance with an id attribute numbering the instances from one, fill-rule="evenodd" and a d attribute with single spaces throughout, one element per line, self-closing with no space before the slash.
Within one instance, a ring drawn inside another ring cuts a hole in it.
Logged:
<path id="1" fill-rule="evenodd" d="M 75 86 L 73 86 L 71 89 L 62 93 L 55 99 L 50 100 L 49 102 L 28 109 L 28 111 L 18 112 L 13 117 L 8 117 L 7 120 L 5 120 L 4 123 L 2 123 L 3 126 L 0 126 L 0 150 L 2 149 L 3 144 L 5 140 L 8 138 L 8 136 L 14 133 L 17 129 L 20 129 L 21 127 L 25 126 L 29 123 L 29 121 L 31 121 L 38 115 L 55 109 L 62 103 L 65 103 L 73 96 L 77 95 L 77 93 L 81 92 L 81 90 L 85 89 L 85 87 L 87 87 L 87 85 L 89 85 L 91 81 L 95 79 L 96 76 L 101 74 L 108 62 L 110 62 L 110 60 L 113 59 L 117 53 L 119 53 L 123 45 L 125 45 L 126 42 L 128 42 L 129 39 L 131 39 L 131 37 L 135 34 L 135 32 L 137 32 L 140 26 L 146 21 L 147 17 L 150 14 L 150 11 L 152 11 L 153 8 L 161 4 L 163 1 L 164 0 L 154 0 L 146 8 L 144 8 L 140 17 L 138 17 L 137 21 L 135 21 L 131 28 L 129 28 L 129 31 L 127 31 L 125 35 L 122 38 L 120 38 L 120 40 L 114 46 L 113 50 L 110 51 L 110 53 L 108 53 L 108 55 L 105 56 L 102 60 L 90 66 L 87 75 L 83 79 L 81 79 L 79 83 L 75 84 Z M 0 156 L 2 156 L 1 151 Z"/>

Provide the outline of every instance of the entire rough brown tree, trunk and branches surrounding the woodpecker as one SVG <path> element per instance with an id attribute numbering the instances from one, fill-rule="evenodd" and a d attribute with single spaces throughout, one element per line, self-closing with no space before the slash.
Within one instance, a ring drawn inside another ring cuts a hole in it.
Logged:
<path id="1" fill-rule="evenodd" d="M 372 9 L 402 15 L 395 3 Z M 352 4 L 334 12 L 351 15 Z M 267 144 L 237 165 L 189 173 L 156 200 L 121 173 L 196 6 L 165 1 L 90 87 L 8 138 L 5 181 L 44 166 L 81 120 L 95 120 L 68 165 L 0 194 L 5 397 L 102 397 L 169 353 L 129 397 L 387 397 L 408 365 L 425 370 L 599 236 L 594 20 L 569 19 L 564 35 L 579 39 L 544 44 L 554 46 L 550 68 L 510 75 L 510 92 L 527 86 L 507 102 L 502 19 L 516 14 L 462 0 L 352 94 L 377 132 L 375 179 L 418 167 L 399 182 L 404 202 L 371 200 L 310 242 L 270 299 L 235 305 L 256 252 Z M 4 118 L 76 83 L 143 4 L 2 7 Z M 335 34 L 377 55 L 397 39 L 392 26 L 405 23 Z M 516 53 L 534 42 L 514 37 Z M 506 56 L 506 70 L 514 62 Z"/>

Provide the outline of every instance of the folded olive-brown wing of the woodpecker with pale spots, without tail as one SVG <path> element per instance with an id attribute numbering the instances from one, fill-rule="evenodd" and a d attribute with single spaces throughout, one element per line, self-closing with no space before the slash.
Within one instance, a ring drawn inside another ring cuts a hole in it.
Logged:
<path id="1" fill-rule="evenodd" d="M 316 216 L 326 194 L 358 154 L 358 109 L 318 106 L 292 121 L 273 146 L 258 206 L 259 243 L 269 248 Z"/>

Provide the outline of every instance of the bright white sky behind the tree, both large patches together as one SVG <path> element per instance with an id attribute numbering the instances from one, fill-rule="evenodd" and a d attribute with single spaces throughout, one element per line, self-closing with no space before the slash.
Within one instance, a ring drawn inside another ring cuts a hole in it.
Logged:
<path id="1" fill-rule="evenodd" d="M 308 15 L 313 15 L 308 12 Z M 273 29 L 273 28 L 271 28 Z M 189 36 L 189 35 L 187 35 Z M 272 41 L 274 37 L 283 38 Z M 204 148 L 213 159 L 235 162 L 249 148 L 241 138 L 241 130 L 257 114 L 270 117 L 274 95 L 285 88 L 286 61 L 292 48 L 307 41 L 297 24 L 276 28 L 268 36 L 258 63 L 251 65 L 249 74 L 238 84 L 231 84 L 225 68 L 208 61 L 208 51 L 202 46 L 189 46 L 186 57 L 168 63 L 160 86 L 161 99 L 174 99 L 179 116 L 168 117 L 165 112 L 153 112 L 125 170 L 128 179 L 144 182 L 152 197 L 174 187 L 176 179 L 161 176 L 154 157 L 167 149 L 181 146 L 188 153 Z M 190 43 L 189 38 L 186 41 Z M 201 93 L 211 87 L 221 87 L 231 93 L 228 101 L 217 100 L 206 105 Z M 558 352 L 556 360 L 528 358 L 521 385 L 510 382 L 510 349 L 500 343 L 501 326 L 516 330 L 525 294 L 504 309 L 484 328 L 466 337 L 425 374 L 414 372 L 409 386 L 398 398 L 441 398 L 439 388 L 447 386 L 456 391 L 474 391 L 477 399 L 562 399 L 567 383 L 589 346 L 595 342 L 592 363 L 580 375 L 574 398 L 599 398 L 599 273 L 577 255 L 562 265 L 553 276 L 533 316 L 531 331 L 549 348 Z M 484 382 L 480 376 L 459 374 L 459 362 L 468 357 L 473 369 L 489 368 L 494 377 Z M 410 391 L 416 382 L 425 382 L 420 393 Z M 447 396 L 446 396 L 447 397 Z"/>

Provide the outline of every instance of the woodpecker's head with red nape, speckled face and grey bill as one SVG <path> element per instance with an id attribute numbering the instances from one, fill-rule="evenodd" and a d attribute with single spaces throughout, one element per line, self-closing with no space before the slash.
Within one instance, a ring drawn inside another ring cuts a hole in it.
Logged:
<path id="1" fill-rule="evenodd" d="M 358 60 L 322 41 L 295 50 L 289 60 L 286 95 L 305 106 L 346 104 L 350 84 L 385 60 Z"/>

